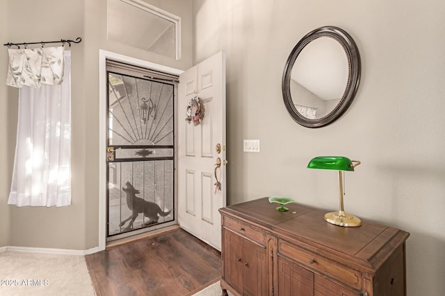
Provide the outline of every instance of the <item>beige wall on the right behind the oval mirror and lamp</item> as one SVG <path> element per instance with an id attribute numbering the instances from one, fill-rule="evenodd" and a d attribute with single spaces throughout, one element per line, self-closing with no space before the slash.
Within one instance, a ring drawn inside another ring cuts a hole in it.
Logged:
<path id="1" fill-rule="evenodd" d="M 261 3 L 260 3 L 261 2 Z M 445 2 L 195 0 L 195 62 L 227 58 L 228 203 L 288 195 L 338 209 L 337 175 L 308 170 L 317 155 L 362 161 L 346 173 L 345 207 L 411 233 L 408 295 L 445 290 Z M 339 26 L 362 55 L 350 110 L 303 128 L 284 107 L 286 58 L 314 28 Z M 243 153 L 260 139 L 261 153 Z M 322 219 L 322 217 L 321 217 Z"/>

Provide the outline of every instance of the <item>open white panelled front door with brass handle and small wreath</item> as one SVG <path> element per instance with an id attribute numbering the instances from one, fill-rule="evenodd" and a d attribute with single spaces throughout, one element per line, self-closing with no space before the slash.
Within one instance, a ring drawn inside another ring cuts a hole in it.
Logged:
<path id="1" fill-rule="evenodd" d="M 223 52 L 182 73 L 178 92 L 179 225 L 221 250 L 218 209 L 226 205 Z M 196 97 L 204 106 L 204 116 L 195 125 L 186 121 L 186 112 L 189 104 L 198 101 Z"/>

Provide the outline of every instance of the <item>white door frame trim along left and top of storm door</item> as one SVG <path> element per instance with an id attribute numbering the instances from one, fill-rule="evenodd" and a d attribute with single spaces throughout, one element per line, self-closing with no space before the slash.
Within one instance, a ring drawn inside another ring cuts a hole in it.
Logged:
<path id="1" fill-rule="evenodd" d="M 179 76 L 182 70 L 99 49 L 99 251 L 106 247 L 106 59 Z M 176 139 L 175 139 L 176 141 Z"/>

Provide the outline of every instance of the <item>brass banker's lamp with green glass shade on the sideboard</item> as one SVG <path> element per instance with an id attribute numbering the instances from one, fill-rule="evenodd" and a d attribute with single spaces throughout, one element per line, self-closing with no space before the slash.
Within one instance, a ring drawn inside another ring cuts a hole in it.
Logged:
<path id="1" fill-rule="evenodd" d="M 343 171 L 354 171 L 355 166 L 360 162 L 350 160 L 348 157 L 342 156 L 321 156 L 314 157 L 307 168 L 321 168 L 325 170 L 339 171 L 339 185 L 340 185 L 340 211 L 325 214 L 325 220 L 331 224 L 344 227 L 357 227 L 362 225 L 359 218 L 346 214 L 343 209 Z"/>

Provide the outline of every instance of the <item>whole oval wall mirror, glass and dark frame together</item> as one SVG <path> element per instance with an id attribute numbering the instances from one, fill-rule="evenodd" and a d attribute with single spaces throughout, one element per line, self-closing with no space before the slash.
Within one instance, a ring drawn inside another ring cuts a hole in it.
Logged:
<path id="1" fill-rule="evenodd" d="M 300 125 L 328 125 L 353 103 L 360 71 L 353 38 L 334 26 L 317 28 L 302 37 L 287 59 L 282 80 L 284 105 Z"/>

